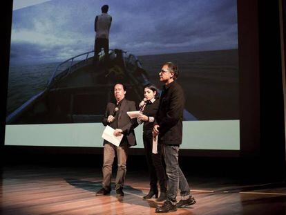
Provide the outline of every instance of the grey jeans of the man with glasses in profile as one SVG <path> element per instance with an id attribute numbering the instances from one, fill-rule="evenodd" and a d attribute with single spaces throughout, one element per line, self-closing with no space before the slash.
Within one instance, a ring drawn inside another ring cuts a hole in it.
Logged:
<path id="1" fill-rule="evenodd" d="M 190 187 L 179 167 L 179 147 L 163 144 L 162 149 L 166 163 L 166 175 L 169 178 L 167 200 L 175 204 L 178 189 L 180 189 L 182 199 L 187 199 L 190 196 Z"/>

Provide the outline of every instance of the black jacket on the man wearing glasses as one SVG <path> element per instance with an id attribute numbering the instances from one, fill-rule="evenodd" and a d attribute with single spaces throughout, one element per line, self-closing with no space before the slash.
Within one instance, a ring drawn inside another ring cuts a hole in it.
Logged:
<path id="1" fill-rule="evenodd" d="M 162 144 L 182 143 L 184 92 L 177 82 L 164 85 L 155 123 L 160 126 L 158 141 Z"/>

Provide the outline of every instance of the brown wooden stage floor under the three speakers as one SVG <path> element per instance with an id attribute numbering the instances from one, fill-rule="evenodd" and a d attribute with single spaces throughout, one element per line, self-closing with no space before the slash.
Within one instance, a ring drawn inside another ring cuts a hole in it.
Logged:
<path id="1" fill-rule="evenodd" d="M 286 214 L 283 182 L 242 186 L 227 178 L 187 178 L 197 203 L 169 214 Z M 162 205 L 142 200 L 149 191 L 146 171 L 127 171 L 121 198 L 114 190 L 95 196 L 101 180 L 101 169 L 92 167 L 3 167 L 0 214 L 155 214 Z"/>

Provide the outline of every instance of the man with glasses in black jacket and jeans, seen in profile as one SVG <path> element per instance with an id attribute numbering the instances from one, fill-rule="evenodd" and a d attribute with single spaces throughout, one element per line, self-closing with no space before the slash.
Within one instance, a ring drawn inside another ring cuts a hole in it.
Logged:
<path id="1" fill-rule="evenodd" d="M 179 147 L 182 144 L 182 120 L 185 102 L 182 87 L 175 82 L 178 75 L 178 66 L 172 62 L 164 64 L 159 73 L 160 82 L 163 82 L 164 86 L 155 117 L 153 134 L 158 135 L 158 144 L 162 144 L 166 175 L 169 181 L 167 200 L 155 210 L 157 213 L 173 212 L 178 207 L 196 203 L 190 194 L 188 182 L 178 162 Z M 180 189 L 181 194 L 179 203 L 176 201 L 178 189 Z"/>

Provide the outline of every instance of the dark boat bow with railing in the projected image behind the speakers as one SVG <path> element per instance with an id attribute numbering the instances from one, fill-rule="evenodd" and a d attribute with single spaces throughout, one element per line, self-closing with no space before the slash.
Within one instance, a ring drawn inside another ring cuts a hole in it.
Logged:
<path id="1" fill-rule="evenodd" d="M 92 57 L 90 57 L 92 55 Z M 102 122 L 113 86 L 126 86 L 126 98 L 142 100 L 144 85 L 151 83 L 147 71 L 131 53 L 115 49 L 93 61 L 93 51 L 58 64 L 44 91 L 34 95 L 6 118 L 6 124 L 55 124 Z M 196 120 L 184 110 L 184 120 Z"/>

